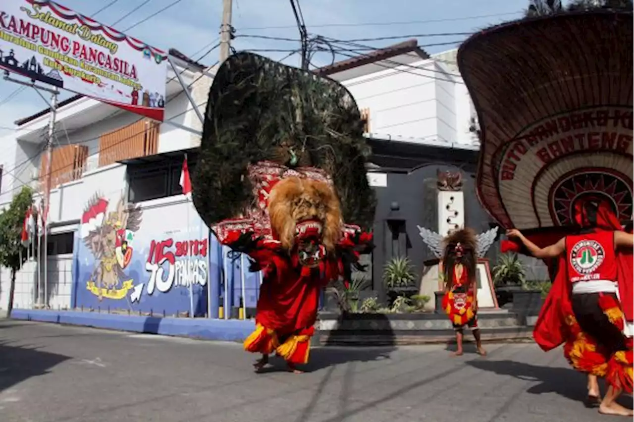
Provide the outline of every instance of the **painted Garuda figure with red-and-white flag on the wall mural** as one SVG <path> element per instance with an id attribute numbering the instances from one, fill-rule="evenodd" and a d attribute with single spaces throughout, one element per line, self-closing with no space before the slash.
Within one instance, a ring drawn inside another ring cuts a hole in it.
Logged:
<path id="1" fill-rule="evenodd" d="M 126 204 L 122 197 L 114 210 L 108 212 L 108 200 L 95 195 L 82 215 L 81 237 L 94 255 L 94 270 L 86 288 L 94 295 L 108 299 L 122 299 L 133 288 L 124 269 L 133 254 L 134 233 L 141 226 L 142 211 Z"/>

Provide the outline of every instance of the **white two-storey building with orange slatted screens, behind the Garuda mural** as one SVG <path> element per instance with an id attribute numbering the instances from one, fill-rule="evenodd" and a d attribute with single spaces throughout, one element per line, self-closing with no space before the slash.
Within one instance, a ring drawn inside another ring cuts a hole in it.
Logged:
<path id="1" fill-rule="evenodd" d="M 211 79 L 202 74 L 203 65 L 178 51 L 171 50 L 170 54 L 184 84 L 205 84 L 205 79 Z M 196 89 L 189 88 L 188 91 L 204 113 L 205 100 L 196 95 Z M 82 211 L 94 195 L 98 193 L 108 198 L 112 204 L 110 208 L 121 196 L 141 203 L 145 208 L 179 204 L 182 207 L 182 195 L 173 196 L 180 189 L 178 178 L 183 160 L 180 151 L 198 146 L 200 140 L 186 128 L 199 129 L 202 125 L 171 67 L 167 74 L 166 98 L 162 124 L 79 95 L 58 105 L 49 208 L 48 274 L 52 288 L 48 296 L 51 307 L 68 308 L 71 305 L 72 257 L 74 246 L 77 246 L 74 233 L 79 227 Z M 0 158 L 0 208 L 6 206 L 22 186 L 41 191 L 45 164 L 42 150 L 48 122 L 49 110 L 42 110 L 18 120 L 15 134 L 1 140 L 4 153 Z M 165 157 L 164 161 L 169 161 L 169 154 L 174 151 L 179 151 L 178 165 L 170 163 L 173 168 L 168 165 L 133 176 L 133 184 L 130 184 L 128 170 L 132 169 L 121 163 L 122 160 L 152 156 Z M 171 172 L 168 173 L 168 169 Z M 134 190 L 128 192 L 131 187 Z M 6 309 L 10 271 L 1 270 L 0 309 Z M 28 262 L 16 276 L 15 307 L 33 305 L 36 279 L 35 262 Z"/>

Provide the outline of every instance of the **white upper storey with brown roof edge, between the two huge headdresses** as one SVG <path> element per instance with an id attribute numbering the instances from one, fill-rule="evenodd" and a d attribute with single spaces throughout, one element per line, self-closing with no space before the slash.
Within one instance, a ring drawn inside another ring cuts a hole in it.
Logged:
<path id="1" fill-rule="evenodd" d="M 474 108 L 457 49 L 430 56 L 415 39 L 321 68 L 349 89 L 373 137 L 474 145 Z"/>

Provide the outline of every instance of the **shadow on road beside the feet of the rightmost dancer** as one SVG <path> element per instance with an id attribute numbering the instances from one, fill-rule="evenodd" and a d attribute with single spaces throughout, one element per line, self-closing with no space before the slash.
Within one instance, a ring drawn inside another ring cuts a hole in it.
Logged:
<path id="1" fill-rule="evenodd" d="M 467 361 L 465 364 L 483 371 L 509 375 L 525 381 L 538 381 L 528 393 L 556 393 L 571 400 L 583 400 L 586 394 L 586 376 L 574 369 L 536 366 L 514 361 Z"/>

